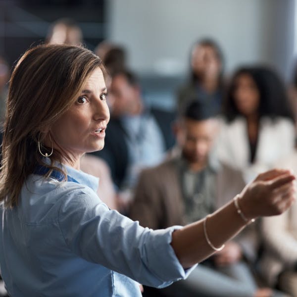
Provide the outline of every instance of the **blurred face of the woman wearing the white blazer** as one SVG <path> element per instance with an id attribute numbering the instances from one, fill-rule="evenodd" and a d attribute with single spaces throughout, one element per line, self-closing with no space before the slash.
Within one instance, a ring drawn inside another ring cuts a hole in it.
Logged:
<path id="1" fill-rule="evenodd" d="M 241 74 L 236 78 L 234 91 L 235 104 L 243 115 L 257 113 L 260 94 L 253 79 L 248 74 Z"/>

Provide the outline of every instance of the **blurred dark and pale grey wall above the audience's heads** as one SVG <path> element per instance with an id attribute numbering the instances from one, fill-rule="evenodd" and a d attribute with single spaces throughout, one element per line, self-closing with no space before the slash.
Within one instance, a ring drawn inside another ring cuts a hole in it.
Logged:
<path id="1" fill-rule="evenodd" d="M 225 75 L 242 64 L 265 63 L 290 81 L 295 61 L 295 0 L 0 0 L 0 55 L 9 66 L 44 42 L 50 24 L 71 18 L 83 41 L 127 50 L 146 100 L 173 108 L 189 72 L 193 43 L 207 37 L 224 53 Z"/>

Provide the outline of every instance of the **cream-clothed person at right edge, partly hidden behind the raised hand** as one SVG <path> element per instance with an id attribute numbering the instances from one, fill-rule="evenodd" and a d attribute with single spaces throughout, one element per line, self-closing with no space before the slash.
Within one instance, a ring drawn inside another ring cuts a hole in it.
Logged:
<path id="1" fill-rule="evenodd" d="M 297 172 L 297 150 L 276 164 Z M 262 219 L 260 270 L 271 286 L 297 296 L 297 203 L 281 216 Z"/>

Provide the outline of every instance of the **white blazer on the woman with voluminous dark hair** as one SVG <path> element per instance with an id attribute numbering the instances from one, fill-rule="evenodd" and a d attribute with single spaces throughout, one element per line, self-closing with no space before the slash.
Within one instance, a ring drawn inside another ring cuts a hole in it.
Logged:
<path id="1" fill-rule="evenodd" d="M 263 117 L 260 120 L 255 160 L 250 164 L 247 122 L 243 117 L 237 117 L 231 123 L 221 120 L 215 151 L 221 161 L 242 170 L 245 181 L 249 182 L 258 173 L 271 168 L 278 159 L 291 153 L 294 144 L 295 127 L 292 121 L 283 117 L 274 121 Z"/>

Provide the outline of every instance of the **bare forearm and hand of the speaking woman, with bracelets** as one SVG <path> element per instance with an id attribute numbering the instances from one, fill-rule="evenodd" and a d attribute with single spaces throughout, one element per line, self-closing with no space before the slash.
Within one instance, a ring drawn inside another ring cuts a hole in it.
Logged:
<path id="1" fill-rule="evenodd" d="M 295 176 L 287 170 L 274 169 L 260 174 L 238 199 L 247 220 L 281 214 L 288 209 L 295 199 L 294 180 Z M 191 267 L 215 251 L 207 242 L 205 233 L 212 246 L 221 247 L 246 225 L 234 201 L 230 201 L 206 221 L 202 219 L 176 230 L 172 234 L 171 246 L 182 266 Z"/>

